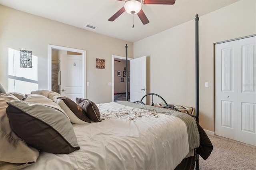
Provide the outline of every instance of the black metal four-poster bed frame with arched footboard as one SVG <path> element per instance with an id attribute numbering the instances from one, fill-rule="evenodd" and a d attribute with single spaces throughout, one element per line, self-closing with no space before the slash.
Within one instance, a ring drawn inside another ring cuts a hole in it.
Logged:
<path id="1" fill-rule="evenodd" d="M 196 60 L 196 115 L 190 115 L 192 117 L 194 117 L 197 121 L 197 123 L 199 123 L 199 38 L 198 38 L 198 21 L 199 21 L 199 17 L 198 17 L 198 14 L 196 14 L 196 18 L 195 18 L 195 60 Z M 126 48 L 126 68 L 127 67 L 127 44 L 125 46 Z M 128 81 L 127 81 L 127 76 L 126 76 L 126 101 L 128 101 Z M 164 101 L 164 104 L 166 105 L 165 107 L 162 107 L 162 108 L 170 108 L 170 109 L 173 109 L 175 111 L 179 111 L 178 109 L 174 108 L 174 107 L 171 107 L 171 106 L 168 106 L 168 104 L 166 103 L 166 101 L 160 96 L 160 95 L 157 95 L 155 93 L 148 93 L 146 95 L 144 95 L 142 97 L 142 99 L 140 101 L 135 101 L 135 103 L 140 103 L 140 104 L 144 104 L 142 102 L 142 100 L 144 99 L 144 97 L 148 96 L 148 95 L 152 95 L 152 106 L 154 106 L 154 101 L 153 101 L 153 95 L 156 95 L 158 96 L 160 99 L 162 99 L 162 101 Z M 199 154 L 196 153 L 196 149 L 195 149 L 195 160 L 196 160 L 196 167 L 195 169 L 196 170 L 199 170 Z"/>

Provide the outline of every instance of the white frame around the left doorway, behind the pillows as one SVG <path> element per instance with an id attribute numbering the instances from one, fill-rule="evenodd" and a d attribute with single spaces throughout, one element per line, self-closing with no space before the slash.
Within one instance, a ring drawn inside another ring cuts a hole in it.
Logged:
<path id="1" fill-rule="evenodd" d="M 86 98 L 86 51 L 82 49 L 75 49 L 69 47 L 62 47 L 58 45 L 48 45 L 48 90 L 52 91 L 52 49 L 63 50 L 63 51 L 72 51 L 76 53 L 82 53 L 82 82 L 83 82 L 83 89 L 84 89 L 84 98 Z"/>

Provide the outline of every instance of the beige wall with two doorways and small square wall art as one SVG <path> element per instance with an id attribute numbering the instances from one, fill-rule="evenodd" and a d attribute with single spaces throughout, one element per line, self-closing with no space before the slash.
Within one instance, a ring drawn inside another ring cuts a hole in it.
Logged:
<path id="1" fill-rule="evenodd" d="M 32 51 L 38 57 L 39 89 L 48 89 L 48 44 L 86 50 L 86 98 L 95 103 L 112 101 L 112 55 L 133 56 L 133 43 L 75 28 L 0 5 L 0 82 L 8 91 L 8 48 Z M 106 69 L 96 69 L 96 58 Z"/>

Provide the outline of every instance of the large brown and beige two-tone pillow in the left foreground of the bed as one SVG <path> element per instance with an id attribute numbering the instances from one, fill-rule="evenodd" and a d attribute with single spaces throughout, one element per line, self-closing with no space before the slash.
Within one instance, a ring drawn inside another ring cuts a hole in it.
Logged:
<path id="1" fill-rule="evenodd" d="M 54 154 L 80 149 L 72 124 L 58 109 L 24 101 L 7 104 L 10 127 L 26 143 Z"/>

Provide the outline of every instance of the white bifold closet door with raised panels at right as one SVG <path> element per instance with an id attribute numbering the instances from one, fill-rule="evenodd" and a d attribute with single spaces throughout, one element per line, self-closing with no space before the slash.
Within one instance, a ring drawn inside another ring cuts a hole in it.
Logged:
<path id="1" fill-rule="evenodd" d="M 256 146 L 256 36 L 215 45 L 215 134 Z"/>

